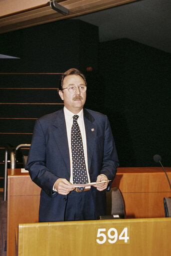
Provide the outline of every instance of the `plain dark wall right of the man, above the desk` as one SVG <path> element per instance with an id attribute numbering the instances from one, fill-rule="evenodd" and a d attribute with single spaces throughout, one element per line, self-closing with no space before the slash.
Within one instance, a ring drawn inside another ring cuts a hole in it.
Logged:
<path id="1" fill-rule="evenodd" d="M 127 39 L 99 50 L 101 104 L 110 120 L 120 166 L 171 165 L 171 55 Z"/>

